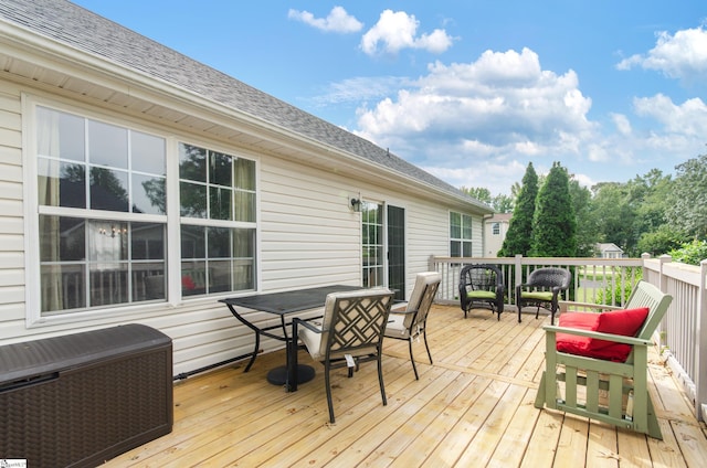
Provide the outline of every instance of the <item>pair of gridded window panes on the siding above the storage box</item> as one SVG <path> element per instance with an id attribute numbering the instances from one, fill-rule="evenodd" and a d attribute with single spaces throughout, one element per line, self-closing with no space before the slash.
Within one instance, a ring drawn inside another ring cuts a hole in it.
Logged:
<path id="1" fill-rule="evenodd" d="M 170 275 L 177 299 L 254 288 L 254 161 L 188 143 L 170 158 L 162 136 L 40 105 L 35 116 L 41 316 L 165 301 Z"/>

